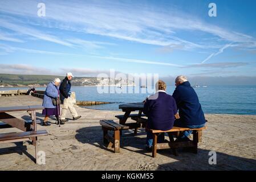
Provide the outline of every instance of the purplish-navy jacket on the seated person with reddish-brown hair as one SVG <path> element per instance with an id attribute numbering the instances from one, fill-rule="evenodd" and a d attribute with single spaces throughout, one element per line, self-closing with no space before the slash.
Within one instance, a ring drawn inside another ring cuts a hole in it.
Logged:
<path id="1" fill-rule="evenodd" d="M 152 99 L 158 93 L 156 99 Z M 172 96 L 165 92 L 157 92 L 150 96 L 145 104 L 143 113 L 148 116 L 148 128 L 155 130 L 170 130 L 173 127 L 177 105 Z"/>

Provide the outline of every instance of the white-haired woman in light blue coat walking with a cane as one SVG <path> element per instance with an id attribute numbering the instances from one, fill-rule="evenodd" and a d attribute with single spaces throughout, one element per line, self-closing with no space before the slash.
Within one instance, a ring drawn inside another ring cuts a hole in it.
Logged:
<path id="1" fill-rule="evenodd" d="M 45 115 L 44 121 L 42 123 L 42 126 L 50 126 L 50 123 L 48 123 L 48 119 L 51 115 L 55 115 L 57 121 L 59 121 L 59 113 L 60 113 L 60 107 L 59 105 L 54 105 L 52 103 L 52 99 L 58 100 L 59 98 L 59 88 L 60 85 L 60 79 L 55 78 L 54 81 L 50 82 L 47 85 L 46 91 L 44 92 L 44 98 L 43 98 L 43 115 Z M 59 123 L 57 122 L 59 125 Z M 63 125 L 63 122 L 60 122 L 60 125 Z"/>

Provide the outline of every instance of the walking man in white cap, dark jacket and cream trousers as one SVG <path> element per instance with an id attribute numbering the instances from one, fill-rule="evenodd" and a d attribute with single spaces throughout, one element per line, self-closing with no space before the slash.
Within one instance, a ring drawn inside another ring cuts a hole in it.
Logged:
<path id="1" fill-rule="evenodd" d="M 62 81 L 62 83 L 60 84 L 60 87 L 59 87 L 60 100 L 63 103 L 62 114 L 60 115 L 61 122 L 68 121 L 66 119 L 66 114 L 67 114 L 68 109 L 70 110 L 70 113 L 72 114 L 74 120 L 81 118 L 81 116 L 78 115 L 78 113 L 76 112 L 74 104 L 72 103 L 72 100 L 70 98 L 70 96 L 71 96 L 71 79 L 73 77 L 74 76 L 72 75 L 72 73 L 67 73 L 66 77 L 64 78 L 64 80 Z"/>

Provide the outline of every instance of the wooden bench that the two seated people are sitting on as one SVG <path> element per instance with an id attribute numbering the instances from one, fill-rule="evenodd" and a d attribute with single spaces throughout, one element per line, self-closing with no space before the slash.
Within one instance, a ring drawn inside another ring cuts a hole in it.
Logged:
<path id="1" fill-rule="evenodd" d="M 202 130 L 206 129 L 206 127 L 202 127 L 200 129 L 189 129 L 184 127 L 173 127 L 171 130 L 162 131 L 162 130 L 151 130 L 153 134 L 153 146 L 152 146 L 152 157 L 155 158 L 157 154 L 157 150 L 172 148 L 173 154 L 178 155 L 176 148 L 182 147 L 191 147 L 193 152 L 197 154 L 197 146 L 198 142 L 201 141 L 202 138 Z M 180 131 L 193 131 L 193 140 L 188 142 L 174 142 L 173 136 L 179 135 Z M 168 143 L 157 143 L 157 137 L 160 133 L 168 133 L 170 142 Z"/>

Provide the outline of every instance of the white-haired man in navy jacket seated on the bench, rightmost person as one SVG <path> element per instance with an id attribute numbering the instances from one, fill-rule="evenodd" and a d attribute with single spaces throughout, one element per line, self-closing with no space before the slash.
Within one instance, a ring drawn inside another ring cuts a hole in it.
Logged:
<path id="1" fill-rule="evenodd" d="M 198 129 L 205 126 L 205 115 L 199 103 L 198 97 L 185 76 L 178 76 L 175 80 L 176 89 L 173 98 L 176 100 L 180 119 L 174 122 L 174 126 Z M 177 141 L 188 141 L 192 130 L 185 131 Z"/>

